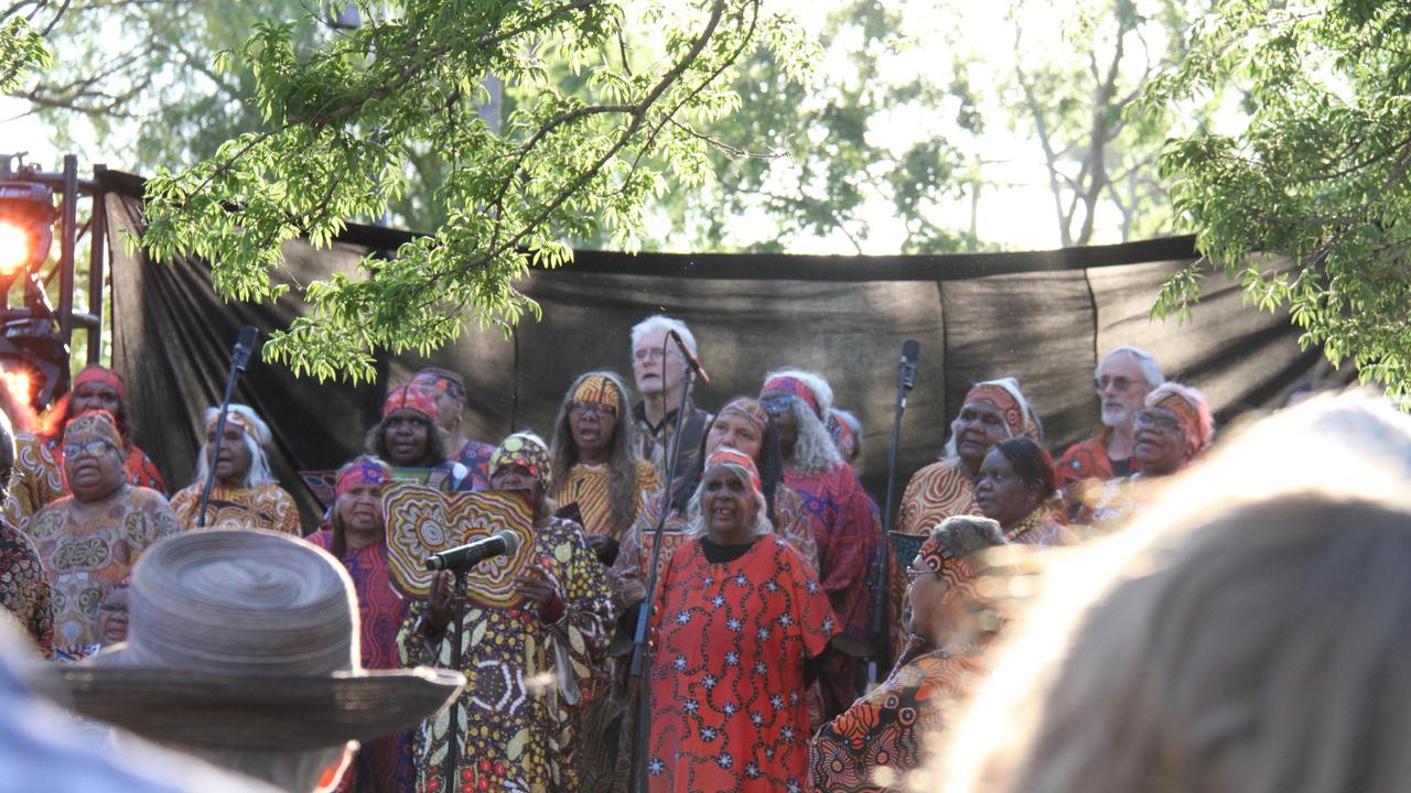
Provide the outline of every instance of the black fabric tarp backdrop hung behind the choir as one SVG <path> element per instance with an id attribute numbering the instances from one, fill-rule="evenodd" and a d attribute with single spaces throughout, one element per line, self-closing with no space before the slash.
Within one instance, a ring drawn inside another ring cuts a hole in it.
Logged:
<path id="1" fill-rule="evenodd" d="M 200 413 L 220 399 L 240 326 L 267 333 L 306 306 L 295 293 L 275 303 L 223 303 L 207 265 L 128 254 L 121 234 L 141 229 L 141 179 L 109 172 L 106 186 L 113 365 L 138 406 L 137 443 L 178 488 L 190 481 Z M 308 284 L 351 272 L 361 254 L 395 250 L 406 238 L 405 231 L 350 227 L 332 250 L 291 243 L 275 279 Z M 581 251 L 571 267 L 536 271 L 521 284 L 543 306 L 543 320 L 522 322 L 512 340 L 473 329 L 430 360 L 380 358 L 378 382 L 360 387 L 295 378 L 282 365 L 253 361 L 236 399 L 270 422 L 275 473 L 312 526 L 313 500 L 296 471 L 332 468 L 356 454 L 389 382 L 428 364 L 460 371 L 473 437 L 495 443 L 525 428 L 547 437 L 577 374 L 612 368 L 631 382 L 629 329 L 663 312 L 696 333 L 713 378 L 698 392 L 706 408 L 756 394 L 772 368 L 824 374 L 837 405 L 862 419 L 864 478 L 880 494 L 903 339 L 921 341 L 899 450 L 903 483 L 935 459 L 947 423 L 978 380 L 1017 377 L 1058 450 L 1094 432 L 1092 370 L 1102 351 L 1120 344 L 1151 350 L 1168 377 L 1199 387 L 1221 418 L 1273 405 L 1298 381 L 1326 375 L 1321 353 L 1298 349 L 1285 316 L 1243 305 L 1239 288 L 1223 279 L 1206 284 L 1187 325 L 1150 322 L 1161 281 L 1192 257 L 1189 237 L 924 257 Z"/>

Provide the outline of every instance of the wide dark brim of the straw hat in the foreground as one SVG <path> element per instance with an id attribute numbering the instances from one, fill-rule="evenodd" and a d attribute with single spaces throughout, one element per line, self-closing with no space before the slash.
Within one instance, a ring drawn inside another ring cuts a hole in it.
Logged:
<path id="1" fill-rule="evenodd" d="M 159 744 L 316 749 L 398 732 L 450 704 L 459 672 L 399 669 L 267 677 L 152 666 L 63 666 L 45 693 Z"/>

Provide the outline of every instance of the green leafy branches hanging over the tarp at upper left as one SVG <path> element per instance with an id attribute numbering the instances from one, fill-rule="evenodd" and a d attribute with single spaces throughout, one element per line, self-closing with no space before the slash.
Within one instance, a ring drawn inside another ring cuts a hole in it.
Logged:
<path id="1" fill-rule="evenodd" d="M 800 76 L 809 48 L 762 0 L 653 4 L 653 45 L 624 35 L 604 0 L 360 1 L 364 24 L 301 49 L 295 25 L 262 23 L 227 55 L 255 80 L 264 128 L 207 159 L 148 181 L 143 244 L 158 258 L 212 262 L 220 295 L 270 299 L 279 246 L 329 244 L 354 217 L 377 217 L 406 188 L 408 152 L 446 162 L 435 202 L 446 222 L 365 278 L 310 284 L 308 316 L 265 356 L 320 378 L 371 377 L 377 350 L 428 351 L 467 323 L 507 333 L 536 306 L 514 281 L 531 262 L 571 258 L 566 240 L 602 227 L 632 248 L 643 203 L 667 181 L 706 176 L 696 126 L 738 104 L 731 69 L 761 44 Z M 584 76 L 567 93 L 546 63 Z M 522 100 L 494 131 L 477 114 L 480 79 Z M 660 164 L 660 165 L 658 165 Z"/>

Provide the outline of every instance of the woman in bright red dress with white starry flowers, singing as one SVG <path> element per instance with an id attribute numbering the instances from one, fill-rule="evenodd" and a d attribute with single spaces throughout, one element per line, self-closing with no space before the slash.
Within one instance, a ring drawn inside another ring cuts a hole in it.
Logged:
<path id="1" fill-rule="evenodd" d="M 759 471 L 721 447 L 696 490 L 696 538 L 652 617 L 653 792 L 801 790 L 809 666 L 838 631 L 809 563 L 773 533 Z"/>

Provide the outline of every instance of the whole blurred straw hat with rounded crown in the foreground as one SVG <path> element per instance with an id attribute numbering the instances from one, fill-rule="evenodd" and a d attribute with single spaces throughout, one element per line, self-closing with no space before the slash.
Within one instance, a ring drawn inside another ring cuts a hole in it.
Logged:
<path id="1" fill-rule="evenodd" d="M 165 539 L 133 573 L 128 641 L 58 673 L 52 696 L 159 744 L 301 751 L 420 722 L 459 672 L 368 672 L 347 571 L 272 532 Z"/>

